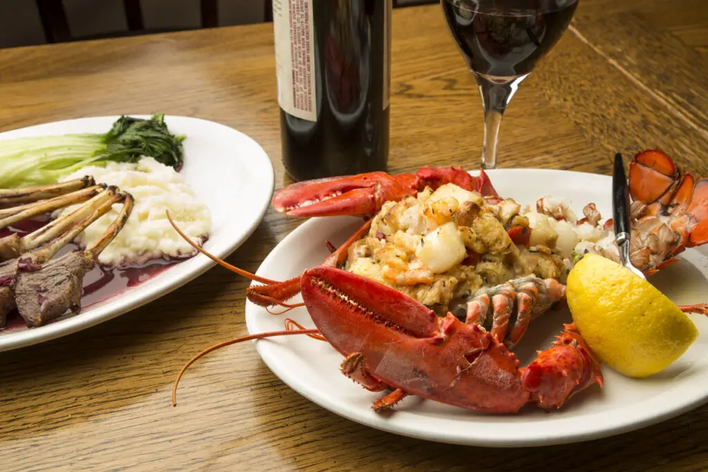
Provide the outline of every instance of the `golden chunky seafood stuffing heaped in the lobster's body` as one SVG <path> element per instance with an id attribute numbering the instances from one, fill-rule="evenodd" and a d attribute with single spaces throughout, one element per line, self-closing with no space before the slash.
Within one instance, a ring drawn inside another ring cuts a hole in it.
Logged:
<path id="1" fill-rule="evenodd" d="M 562 212 L 569 221 L 549 212 Z M 345 269 L 443 315 L 452 301 L 481 287 L 529 275 L 563 282 L 575 251 L 612 241 L 596 213 L 577 225 L 565 202 L 542 199 L 531 211 L 452 183 L 428 187 L 384 203 L 367 236 L 350 246 Z"/>

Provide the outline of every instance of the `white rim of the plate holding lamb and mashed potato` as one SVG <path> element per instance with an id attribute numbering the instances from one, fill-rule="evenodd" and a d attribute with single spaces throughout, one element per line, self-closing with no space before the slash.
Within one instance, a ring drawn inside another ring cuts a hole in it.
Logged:
<path id="1" fill-rule="evenodd" d="M 139 113 L 125 113 L 124 115 L 139 118 L 147 118 L 152 116 Z M 8 129 L 7 131 L 0 132 L 0 139 L 4 139 L 5 137 L 7 137 L 8 134 L 25 132 L 27 130 L 31 131 L 34 128 L 39 127 L 45 127 L 50 125 L 67 125 L 69 123 L 91 122 L 93 120 L 115 121 L 118 120 L 120 116 L 121 115 L 102 115 L 91 117 L 78 117 L 67 120 L 58 120 L 54 122 L 45 122 L 40 123 L 38 125 L 30 125 L 15 129 Z M 202 122 L 202 124 L 207 125 L 209 127 L 217 127 L 222 129 L 223 132 L 239 136 L 239 139 L 245 139 L 247 142 L 250 142 L 250 144 L 255 145 L 257 149 L 260 149 L 260 152 L 257 153 L 256 157 L 249 159 L 249 161 L 254 163 L 253 167 L 262 168 L 263 178 L 268 181 L 268 185 L 264 186 L 265 188 L 269 189 L 267 192 L 265 192 L 267 198 L 263 199 L 263 205 L 261 205 L 262 207 L 257 213 L 258 217 L 251 221 L 251 224 L 249 224 L 248 229 L 244 231 L 241 237 L 235 238 L 233 241 L 226 243 L 224 248 L 212 252 L 212 254 L 216 255 L 218 258 L 227 258 L 229 255 L 234 253 L 234 251 L 236 251 L 236 249 L 238 249 L 244 242 L 246 242 L 249 237 L 251 237 L 253 232 L 256 231 L 256 229 L 258 228 L 258 225 L 260 225 L 263 221 L 265 213 L 268 212 L 268 207 L 270 207 L 270 200 L 273 198 L 273 192 L 275 190 L 275 168 L 273 168 L 273 161 L 270 160 L 270 156 L 268 156 L 268 153 L 265 151 L 265 149 L 263 149 L 263 146 L 261 146 L 261 144 L 259 144 L 255 139 L 250 137 L 248 134 L 245 134 L 244 132 L 241 132 L 238 129 L 235 129 L 228 125 L 224 125 L 222 123 L 215 122 L 212 120 L 205 120 L 204 118 L 188 117 L 183 115 L 165 114 L 164 119 L 168 123 L 168 125 L 169 121 L 175 119 L 185 120 L 186 122 Z M 9 139 L 13 139 L 13 137 L 11 136 Z M 267 163 L 267 166 L 265 165 L 265 163 Z M 152 301 L 155 301 L 156 299 L 159 299 L 167 294 L 170 294 L 171 292 L 174 292 L 176 289 L 179 289 L 188 282 L 195 280 L 197 277 L 200 277 L 205 272 L 207 272 L 207 270 L 210 270 L 216 265 L 213 260 L 201 253 L 193 256 L 193 258 L 184 260 L 181 264 L 183 263 L 192 263 L 194 267 L 192 269 L 178 272 L 177 274 L 173 273 L 173 277 L 169 277 L 169 274 L 172 272 L 172 270 L 165 270 L 164 272 L 161 272 L 160 275 L 166 275 L 167 277 L 164 277 L 164 279 L 161 280 L 159 283 L 148 285 L 147 287 L 144 287 L 142 289 L 140 287 L 137 287 L 134 291 L 132 291 L 133 294 L 139 294 L 140 292 L 144 292 L 144 295 L 142 296 L 135 295 L 137 299 L 132 303 L 118 305 L 115 306 L 113 309 L 105 308 L 105 306 L 103 306 L 105 302 L 110 301 L 111 299 L 115 299 L 115 297 L 120 297 L 120 294 L 116 294 L 113 297 L 110 297 L 109 299 L 105 299 L 103 301 L 98 302 L 99 305 L 96 307 L 96 309 L 89 310 L 86 313 L 72 315 L 63 320 L 58 320 L 53 323 L 40 326 L 38 328 L 31 328 L 28 330 L 21 330 L 16 333 L 6 333 L 4 335 L 0 335 L 0 352 L 16 350 L 22 347 L 29 347 L 40 343 L 46 343 L 50 340 L 55 340 L 57 338 L 62 338 L 67 335 L 78 333 L 81 330 L 91 328 L 98 324 L 104 323 L 105 321 L 110 321 L 113 318 L 117 318 L 118 316 L 138 309 L 142 306 L 151 303 Z M 177 267 L 180 267 L 180 265 L 177 265 L 175 268 Z"/>

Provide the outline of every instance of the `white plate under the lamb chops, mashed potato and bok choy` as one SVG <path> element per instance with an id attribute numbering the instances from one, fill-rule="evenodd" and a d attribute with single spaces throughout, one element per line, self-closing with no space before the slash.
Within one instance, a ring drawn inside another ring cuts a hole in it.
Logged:
<path id="1" fill-rule="evenodd" d="M 131 115 L 139 116 L 140 115 Z M 118 117 L 92 117 L 15 129 L 0 139 L 68 133 L 105 133 Z M 167 116 L 174 134 L 185 134 L 181 173 L 212 214 L 212 232 L 204 247 L 224 258 L 248 238 L 263 219 L 273 194 L 273 165 L 253 139 L 235 129 L 198 118 Z M 239 202 L 248 205 L 239 205 Z M 163 296 L 206 272 L 214 263 L 196 255 L 146 282 L 75 316 L 26 330 L 0 331 L 0 351 L 75 333 Z"/>

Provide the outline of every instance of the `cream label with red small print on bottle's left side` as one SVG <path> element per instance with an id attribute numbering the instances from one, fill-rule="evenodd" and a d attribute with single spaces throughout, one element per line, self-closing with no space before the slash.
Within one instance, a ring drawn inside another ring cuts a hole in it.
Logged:
<path id="1" fill-rule="evenodd" d="M 278 105 L 303 120 L 317 120 L 313 0 L 273 0 Z"/>

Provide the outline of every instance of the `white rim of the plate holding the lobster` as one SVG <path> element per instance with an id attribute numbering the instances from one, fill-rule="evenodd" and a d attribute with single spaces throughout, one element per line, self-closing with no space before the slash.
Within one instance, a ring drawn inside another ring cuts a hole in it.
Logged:
<path id="1" fill-rule="evenodd" d="M 471 175 L 477 175 L 478 171 L 468 171 Z M 590 173 L 590 172 L 582 172 L 582 171 L 565 171 L 565 170 L 559 170 L 559 169 L 539 169 L 539 168 L 505 168 L 505 169 L 495 169 L 491 171 L 486 171 L 489 173 L 490 177 L 493 180 L 494 175 L 500 175 L 503 173 L 508 173 L 508 174 L 513 174 L 513 173 L 544 173 L 547 175 L 552 175 L 552 174 L 561 174 L 561 175 L 568 175 L 570 174 L 575 174 L 578 177 L 584 178 L 584 179 L 602 179 L 605 180 L 606 183 L 609 185 L 611 183 L 611 176 L 610 175 L 603 175 L 603 174 L 597 174 L 597 173 Z M 354 217 L 333 217 L 333 218 L 341 218 L 341 219 L 352 219 Z M 302 224 L 300 224 L 296 229 L 290 232 L 290 234 L 287 234 L 285 238 L 278 243 L 275 248 L 273 248 L 273 251 L 271 251 L 268 256 L 263 260 L 263 263 L 261 263 L 261 266 L 258 267 L 258 270 L 256 271 L 256 275 L 261 275 L 263 277 L 268 277 L 269 274 L 265 274 L 261 268 L 267 265 L 267 263 L 270 263 L 270 260 L 272 258 L 273 253 L 275 253 L 275 249 L 278 248 L 279 246 L 286 246 L 287 244 L 290 243 L 290 241 L 299 238 L 299 236 L 302 233 L 307 233 L 309 231 L 309 226 L 313 226 L 317 224 L 317 221 L 322 220 L 323 218 L 312 218 L 309 219 L 308 221 L 304 221 Z M 256 282 L 252 282 L 251 285 L 256 285 Z M 258 333 L 258 330 L 255 330 L 253 327 L 253 323 L 256 323 L 254 314 L 257 314 L 258 306 L 255 304 L 251 303 L 251 301 L 246 301 L 246 308 L 245 308 L 245 318 L 246 318 L 246 328 L 249 331 L 249 334 L 253 333 Z M 262 341 L 262 342 L 260 342 Z M 312 401 L 312 403 L 315 403 L 316 405 L 319 405 L 321 408 L 325 408 L 326 410 L 329 410 L 331 413 L 334 413 L 338 416 L 341 416 L 342 418 L 347 418 L 348 420 L 351 420 L 353 422 L 357 422 L 360 425 L 365 425 L 367 427 L 373 427 L 377 430 L 382 430 L 385 432 L 393 433 L 393 434 L 399 434 L 402 436 L 406 437 L 413 437 L 416 439 L 424 439 L 432 442 L 442 442 L 446 444 L 461 444 L 461 445 L 468 445 L 468 446 L 478 446 L 478 447 L 539 447 L 539 446 L 552 446 L 552 445 L 557 445 L 557 444 L 570 444 L 570 443 L 576 443 L 576 442 L 586 442 L 590 441 L 593 439 L 600 439 L 604 437 L 612 437 L 617 434 L 624 434 L 626 432 L 631 432 L 635 430 L 640 430 L 641 428 L 648 427 L 651 425 L 658 424 L 660 422 L 669 420 L 670 418 L 675 418 L 678 415 L 681 415 L 683 413 L 686 413 L 687 411 L 693 410 L 700 405 L 703 405 L 704 403 L 708 403 L 708 391 L 700 391 L 700 389 L 693 389 L 694 394 L 692 396 L 686 396 L 684 397 L 684 401 L 680 402 L 678 404 L 674 404 L 671 407 L 664 408 L 663 410 L 659 411 L 658 413 L 654 413 L 653 415 L 641 415 L 641 412 L 644 410 L 642 408 L 642 404 L 645 403 L 646 401 L 651 401 L 651 400 L 644 400 L 644 401 L 639 401 L 639 403 L 635 403 L 634 405 L 631 405 L 629 408 L 626 408 L 624 410 L 624 413 L 633 413 L 633 415 L 629 415 L 629 418 L 627 415 L 622 415 L 622 417 L 619 417 L 617 415 L 615 418 L 613 418 L 611 415 L 607 415 L 607 420 L 605 420 L 602 423 L 598 424 L 588 424 L 586 423 L 586 427 L 584 427 L 581 430 L 575 430 L 572 432 L 566 432 L 564 430 L 553 430 L 553 431 L 547 431 L 543 435 L 536 435 L 534 437 L 510 437 L 507 439 L 500 439 L 498 437 L 484 437 L 484 435 L 478 434 L 465 434 L 464 436 L 460 436 L 455 432 L 455 434 L 446 434 L 444 428 L 437 428 L 433 431 L 427 431 L 425 434 L 421 432 L 421 430 L 417 429 L 416 427 L 411 426 L 408 422 L 404 422 L 403 425 L 392 422 L 390 418 L 378 418 L 378 417 L 372 417 L 371 415 L 356 415 L 355 410 L 356 407 L 347 409 L 345 408 L 344 410 L 339 408 L 338 405 L 336 405 L 336 402 L 329 401 L 331 397 L 329 396 L 318 396 L 316 395 L 316 389 L 315 388 L 310 388 L 307 383 L 304 383 L 302 385 L 294 385 L 295 381 L 295 376 L 290 376 L 287 375 L 281 375 L 280 374 L 280 366 L 278 365 L 278 362 L 276 362 L 275 359 L 271 358 L 268 356 L 268 353 L 266 352 L 264 354 L 264 350 L 268 350 L 268 340 L 253 340 L 252 343 L 256 347 L 256 351 L 258 352 L 258 355 L 261 357 L 261 360 L 268 366 L 268 369 L 270 369 L 270 372 L 273 372 L 275 376 L 280 379 L 283 383 L 285 383 L 288 387 L 290 387 L 295 393 L 298 393 L 301 396 L 304 396 L 304 398 L 307 398 L 309 401 Z M 464 410 L 461 410 L 464 411 Z M 394 415 L 399 414 L 399 415 L 415 415 L 415 411 L 399 411 L 399 412 L 394 412 Z M 593 416 L 597 415 L 597 413 L 593 413 Z M 509 418 L 509 415 L 498 415 L 500 418 Z M 513 416 L 513 415 L 512 415 Z M 575 417 L 577 420 L 577 417 Z M 447 418 L 442 420 L 443 422 L 451 421 Z M 572 422 L 573 417 L 568 417 L 566 416 L 565 418 L 552 418 L 552 420 L 556 424 L 558 423 L 564 423 L 564 422 Z M 541 423 L 532 421 L 529 423 L 530 425 L 539 425 Z M 549 424 L 549 422 L 546 422 L 546 424 Z M 474 420 L 469 422 L 470 426 L 474 425 L 481 425 L 479 422 L 474 422 Z M 513 432 L 513 429 L 515 424 L 510 424 L 509 431 Z M 473 428 L 470 428 L 471 430 Z"/>

